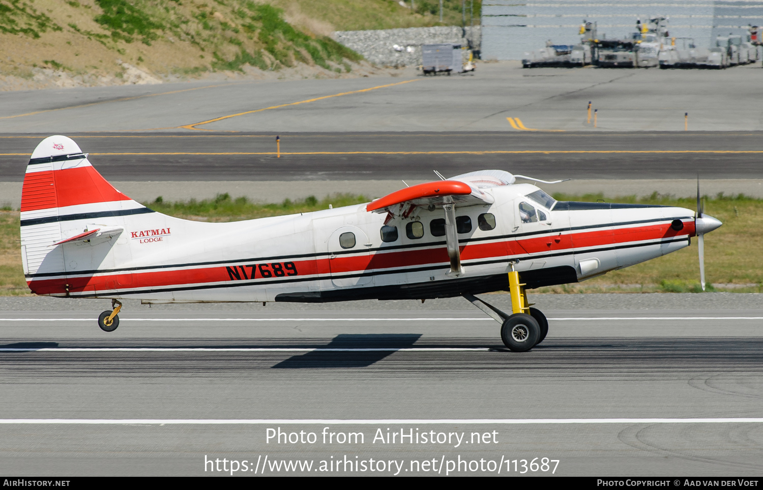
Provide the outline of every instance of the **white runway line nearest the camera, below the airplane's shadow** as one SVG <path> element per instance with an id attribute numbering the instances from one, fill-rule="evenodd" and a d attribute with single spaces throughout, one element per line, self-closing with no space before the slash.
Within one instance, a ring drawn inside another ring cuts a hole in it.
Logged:
<path id="1" fill-rule="evenodd" d="M 763 418 L 383 418 L 383 419 L 214 419 L 214 418 L 2 418 L 0 424 L 94 425 L 385 425 L 385 424 L 761 424 Z"/>

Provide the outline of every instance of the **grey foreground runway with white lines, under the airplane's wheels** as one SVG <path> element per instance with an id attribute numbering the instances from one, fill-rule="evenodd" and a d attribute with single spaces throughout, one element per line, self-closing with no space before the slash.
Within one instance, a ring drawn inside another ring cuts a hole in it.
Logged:
<path id="1" fill-rule="evenodd" d="M 208 456 L 247 460 L 246 474 L 255 476 L 253 463 L 265 456 L 315 466 L 346 456 L 396 460 L 400 474 L 424 475 L 411 460 L 447 469 L 460 456 L 495 461 L 492 472 L 462 475 L 495 474 L 502 457 L 559 460 L 556 475 L 760 474 L 758 295 L 564 296 L 531 298 L 549 316 L 549 337 L 523 354 L 507 351 L 499 325 L 460 298 L 150 309 L 131 302 L 111 334 L 95 325 L 104 301 L 7 299 L 0 470 L 223 474 L 204 472 Z M 505 295 L 485 298 L 506 308 Z M 591 307 L 597 303 L 607 309 Z M 677 418 L 697 420 L 669 420 Z M 362 433 L 364 442 L 323 443 L 324 427 Z M 312 432 L 317 441 L 278 444 L 267 439 L 269 428 Z M 373 442 L 377 429 L 383 437 L 401 429 L 463 433 L 468 442 Z"/>

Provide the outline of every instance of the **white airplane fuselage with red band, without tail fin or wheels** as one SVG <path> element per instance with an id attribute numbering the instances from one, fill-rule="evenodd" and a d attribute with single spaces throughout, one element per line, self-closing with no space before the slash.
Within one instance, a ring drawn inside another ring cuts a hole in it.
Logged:
<path id="1" fill-rule="evenodd" d="M 365 204 L 233 223 L 150 210 L 116 218 L 59 209 L 64 238 L 93 226 L 124 232 L 57 245 L 60 254 L 39 263 L 31 252 L 49 246 L 34 242 L 44 224 L 22 213 L 24 269 L 31 290 L 51 296 L 428 299 L 507 290 L 516 261 L 529 288 L 574 283 L 684 248 L 694 235 L 694 212 L 684 208 L 528 197 L 537 191 L 531 184 L 494 187 L 485 190 L 494 203 L 456 205 L 462 274 L 449 267 L 442 208 L 416 207 L 403 217 L 370 213 Z"/>

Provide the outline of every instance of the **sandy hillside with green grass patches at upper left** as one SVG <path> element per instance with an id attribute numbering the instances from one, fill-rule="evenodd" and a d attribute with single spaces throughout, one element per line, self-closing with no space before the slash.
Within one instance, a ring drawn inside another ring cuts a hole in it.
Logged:
<path id="1" fill-rule="evenodd" d="M 444 5 L 443 24 L 461 24 L 460 0 Z M 31 78 L 38 67 L 119 77 L 124 62 L 156 74 L 301 63 L 343 72 L 361 57 L 333 41 L 333 30 L 439 24 L 436 0 L 410 6 L 410 0 L 406 6 L 392 0 L 0 0 L 0 74 Z"/>

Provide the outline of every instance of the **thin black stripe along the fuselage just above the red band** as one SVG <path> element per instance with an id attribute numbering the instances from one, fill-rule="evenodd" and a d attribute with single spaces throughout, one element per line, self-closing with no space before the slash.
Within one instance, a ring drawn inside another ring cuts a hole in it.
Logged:
<path id="1" fill-rule="evenodd" d="M 153 212 L 153 211 L 149 210 L 148 212 Z M 694 219 L 694 216 L 681 217 L 681 218 L 642 219 L 639 221 L 627 221 L 622 223 L 604 223 L 604 224 L 598 224 L 598 225 L 574 226 L 571 228 L 568 227 L 568 228 L 557 228 L 557 229 L 545 229 L 545 230 L 539 230 L 536 232 L 515 233 L 510 235 L 483 236 L 477 239 L 459 239 L 459 244 L 490 242 L 492 240 L 502 240 L 502 239 L 516 239 L 519 237 L 532 236 L 532 235 L 555 235 L 559 232 L 577 231 L 581 229 L 598 229 L 598 228 L 606 228 L 607 226 L 628 226 L 628 225 L 638 225 L 638 224 L 644 224 L 644 223 L 658 223 L 661 221 L 667 222 L 667 221 L 672 221 L 673 219 Z M 24 222 L 22 221 L 22 223 Z M 38 223 L 35 223 L 35 224 L 38 224 Z M 391 245 L 387 247 L 370 248 L 369 252 L 405 250 L 409 248 L 428 248 L 428 247 L 436 247 L 436 246 L 443 246 L 443 245 L 446 245 L 446 242 L 444 240 L 439 242 L 411 243 L 407 245 Z M 362 251 L 361 250 L 320 251 L 320 252 L 312 252 L 309 254 L 274 255 L 271 257 L 241 258 L 237 260 L 226 260 L 226 261 L 204 261 L 204 262 L 188 262 L 185 264 L 143 265 L 139 267 L 121 267 L 117 269 L 93 269 L 89 271 L 77 271 L 76 274 L 72 273 L 72 275 L 84 276 L 87 274 L 111 274 L 113 272 L 146 271 L 150 269 L 172 269 L 175 267 L 201 267 L 205 265 L 208 266 L 208 265 L 223 265 L 223 264 L 239 264 L 241 262 L 258 262 L 259 263 L 259 262 L 268 262 L 268 261 L 284 261 L 285 259 L 318 258 L 318 257 L 327 256 L 327 255 L 353 255 L 353 254 L 361 254 L 361 253 L 365 253 L 365 250 L 362 250 Z M 50 273 L 40 273 L 40 274 L 24 274 L 24 277 L 27 277 L 27 278 L 60 277 L 60 276 L 65 276 L 66 274 L 68 273 L 50 272 Z"/>

